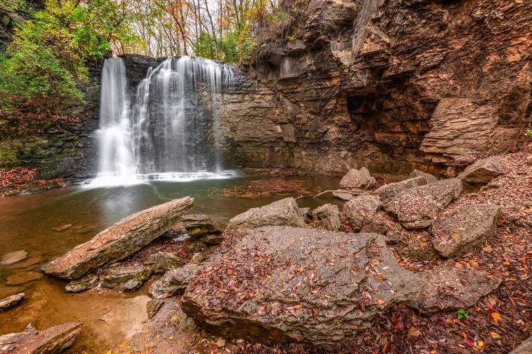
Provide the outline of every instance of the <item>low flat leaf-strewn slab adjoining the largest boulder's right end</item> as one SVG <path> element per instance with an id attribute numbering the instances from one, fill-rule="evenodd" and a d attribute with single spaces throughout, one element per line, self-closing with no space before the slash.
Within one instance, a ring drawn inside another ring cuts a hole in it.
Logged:
<path id="1" fill-rule="evenodd" d="M 497 289 L 502 278 L 485 271 L 440 266 L 424 275 L 427 284 L 412 307 L 425 311 L 456 310 L 477 304 L 478 299 Z"/>

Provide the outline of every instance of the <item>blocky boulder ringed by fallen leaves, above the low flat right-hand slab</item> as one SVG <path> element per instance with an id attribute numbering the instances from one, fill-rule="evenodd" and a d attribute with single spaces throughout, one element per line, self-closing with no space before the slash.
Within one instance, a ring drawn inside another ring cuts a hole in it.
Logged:
<path id="1" fill-rule="evenodd" d="M 443 213 L 433 222 L 433 246 L 444 257 L 471 252 L 495 235 L 500 215 L 495 204 L 462 206 Z"/>

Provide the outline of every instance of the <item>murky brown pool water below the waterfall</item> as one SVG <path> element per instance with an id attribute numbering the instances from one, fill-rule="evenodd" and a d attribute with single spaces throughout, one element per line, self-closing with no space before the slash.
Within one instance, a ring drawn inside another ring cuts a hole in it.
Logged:
<path id="1" fill-rule="evenodd" d="M 82 333 L 66 353 L 105 353 L 124 342 L 146 319 L 146 286 L 135 293 L 85 292 L 70 294 L 63 282 L 41 277 L 21 281 L 28 272 L 54 257 L 88 241 L 104 228 L 127 215 L 171 199 L 191 195 L 190 213 L 207 214 L 227 222 L 243 211 L 283 197 L 299 197 L 299 206 L 314 208 L 325 203 L 341 204 L 323 190 L 336 189 L 339 179 L 307 175 L 271 177 L 263 175 L 182 182 L 155 181 L 129 187 L 50 190 L 35 195 L 0 199 L 0 257 L 16 250 L 28 251 L 28 259 L 12 266 L 0 266 L 0 298 L 26 293 L 26 299 L 0 313 L 0 335 L 23 331 L 32 322 L 45 329 L 68 321 L 83 322 Z M 67 230 L 53 230 L 72 224 Z"/>

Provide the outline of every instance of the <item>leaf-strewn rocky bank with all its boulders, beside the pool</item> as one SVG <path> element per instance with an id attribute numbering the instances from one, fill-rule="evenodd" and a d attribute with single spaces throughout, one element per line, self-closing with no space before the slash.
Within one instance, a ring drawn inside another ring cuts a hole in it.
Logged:
<path id="1" fill-rule="evenodd" d="M 343 204 L 285 197 L 227 225 L 174 199 L 42 270 L 69 292 L 147 291 L 117 353 L 508 353 L 532 330 L 530 153 L 451 179 L 354 169 Z"/>

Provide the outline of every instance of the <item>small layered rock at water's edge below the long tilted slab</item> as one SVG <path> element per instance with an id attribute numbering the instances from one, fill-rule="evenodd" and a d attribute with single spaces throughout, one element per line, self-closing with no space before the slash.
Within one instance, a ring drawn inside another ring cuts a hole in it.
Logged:
<path id="1" fill-rule="evenodd" d="M 140 288 L 151 275 L 151 269 L 143 266 L 114 266 L 104 270 L 102 286 L 117 291 L 132 291 Z"/>

